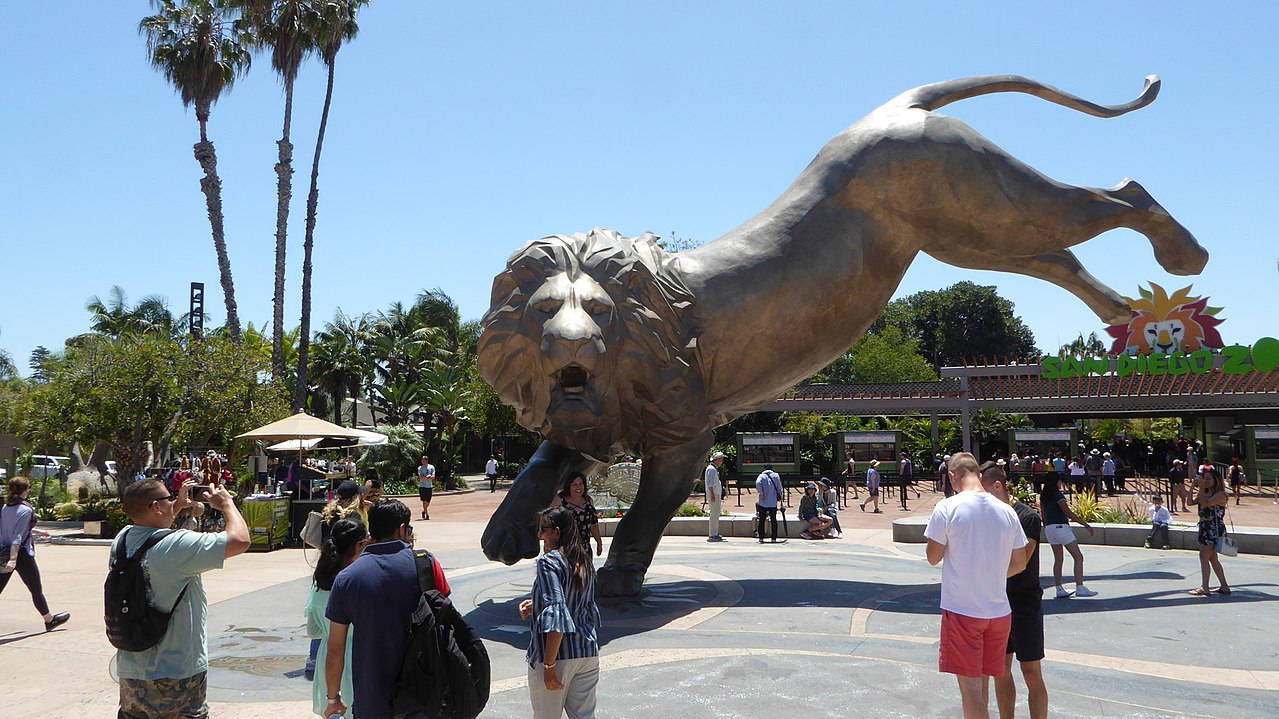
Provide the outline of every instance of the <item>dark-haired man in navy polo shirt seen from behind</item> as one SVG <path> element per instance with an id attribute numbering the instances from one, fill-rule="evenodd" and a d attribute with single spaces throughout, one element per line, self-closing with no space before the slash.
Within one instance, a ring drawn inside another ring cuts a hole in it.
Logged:
<path id="1" fill-rule="evenodd" d="M 338 693 L 345 663 L 347 632 L 356 626 L 350 646 L 353 710 L 361 719 L 405 716 L 394 709 L 395 679 L 408 645 L 409 618 L 421 590 L 413 558 L 413 526 L 408 507 L 384 499 L 368 509 L 373 544 L 333 582 L 329 606 L 329 652 L 325 679 L 329 705 L 325 716 L 344 715 L 347 704 Z M 439 562 L 432 562 L 435 589 L 448 596 L 449 583 Z M 345 697 L 352 699 L 352 697 Z M 413 716 L 414 714 L 408 714 Z"/>

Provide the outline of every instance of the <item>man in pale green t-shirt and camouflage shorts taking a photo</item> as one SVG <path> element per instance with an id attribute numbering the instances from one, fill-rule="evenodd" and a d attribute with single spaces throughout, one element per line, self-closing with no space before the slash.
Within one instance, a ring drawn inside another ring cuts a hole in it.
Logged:
<path id="1" fill-rule="evenodd" d="M 174 516 L 191 507 L 194 480 L 170 494 L 162 482 L 142 480 L 124 490 L 122 504 L 133 525 L 120 530 L 111 555 L 125 542 L 132 555 L 147 537 L 169 530 Z M 147 550 L 146 569 L 151 605 L 171 612 L 169 631 L 160 644 L 142 651 L 116 652 L 120 676 L 122 719 L 151 716 L 208 716 L 205 702 L 208 670 L 208 600 L 200 574 L 219 569 L 223 560 L 248 550 L 248 526 L 231 496 L 220 486 L 208 491 L 208 504 L 226 517 L 226 531 L 201 533 L 175 530 Z"/>

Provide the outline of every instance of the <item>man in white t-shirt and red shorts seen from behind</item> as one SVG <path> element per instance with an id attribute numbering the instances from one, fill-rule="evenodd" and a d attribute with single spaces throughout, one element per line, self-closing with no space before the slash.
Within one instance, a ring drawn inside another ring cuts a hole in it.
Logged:
<path id="1" fill-rule="evenodd" d="M 1030 546 L 1017 513 L 981 485 L 977 459 L 950 458 L 959 490 L 938 503 L 923 536 L 929 564 L 941 564 L 938 668 L 955 674 L 964 719 L 989 718 L 990 681 L 1004 673 L 1012 626 L 1007 580 L 1026 568 Z"/>

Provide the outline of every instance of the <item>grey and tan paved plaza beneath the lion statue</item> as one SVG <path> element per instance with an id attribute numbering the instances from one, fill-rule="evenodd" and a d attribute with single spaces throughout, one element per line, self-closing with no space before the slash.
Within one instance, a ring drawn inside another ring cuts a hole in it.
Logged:
<path id="1" fill-rule="evenodd" d="M 439 498 L 435 519 L 414 528 L 486 640 L 494 682 L 483 716 L 517 718 L 528 715 L 528 632 L 517 604 L 533 565 L 490 563 L 478 549 L 500 498 Z M 923 560 L 922 545 L 890 541 L 886 521 L 895 516 L 863 521 L 845 512 L 843 540 L 666 537 L 638 601 L 601 600 L 600 716 L 957 715 L 954 679 L 936 672 L 940 571 Z M 1186 594 L 1198 583 L 1193 553 L 1086 546 L 1085 554 L 1099 596 L 1045 594 L 1053 715 L 1275 714 L 1279 558 L 1224 558 L 1234 594 L 1196 599 Z M 73 619 L 40 633 L 20 585 L 0 596 L 8 705 L 20 716 L 114 715 L 101 619 L 106 548 L 41 545 L 37 555 L 54 609 Z M 251 554 L 206 574 L 215 716 L 312 716 L 301 676 L 307 557 Z M 1042 574 L 1050 563 L 1045 548 Z M 1018 687 L 1026 715 L 1021 679 Z"/>

